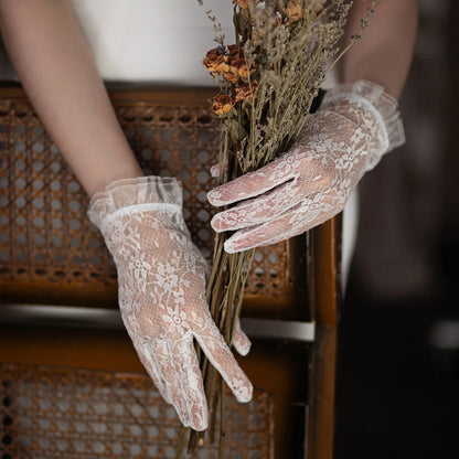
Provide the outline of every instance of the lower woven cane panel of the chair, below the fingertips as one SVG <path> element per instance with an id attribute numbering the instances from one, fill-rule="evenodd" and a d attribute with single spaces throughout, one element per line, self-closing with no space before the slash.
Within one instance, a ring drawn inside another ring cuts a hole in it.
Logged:
<path id="1" fill-rule="evenodd" d="M 0 365 L 2 459 L 174 458 L 180 423 L 143 375 Z M 225 459 L 273 458 L 273 401 L 226 394 Z M 193 458 L 217 458 L 206 446 Z M 184 457 L 188 457 L 184 455 Z"/>

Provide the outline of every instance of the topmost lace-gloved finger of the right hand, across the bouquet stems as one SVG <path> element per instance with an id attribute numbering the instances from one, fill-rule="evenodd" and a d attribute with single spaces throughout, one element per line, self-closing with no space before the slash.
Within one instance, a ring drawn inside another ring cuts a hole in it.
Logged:
<path id="1" fill-rule="evenodd" d="M 286 166 L 284 158 L 273 161 L 257 171 L 214 188 L 207 193 L 207 200 L 212 205 L 222 206 L 266 193 L 293 177 L 286 173 Z"/>

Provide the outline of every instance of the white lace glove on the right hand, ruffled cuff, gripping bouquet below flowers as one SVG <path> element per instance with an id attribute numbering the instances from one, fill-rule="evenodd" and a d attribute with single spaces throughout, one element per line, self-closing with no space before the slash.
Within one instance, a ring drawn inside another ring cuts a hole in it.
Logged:
<path id="1" fill-rule="evenodd" d="M 296 145 L 264 168 L 207 194 L 216 206 L 216 232 L 235 231 L 228 253 L 277 243 L 343 210 L 362 175 L 404 143 L 397 103 L 366 81 L 329 90 L 320 109 L 306 118 Z"/>

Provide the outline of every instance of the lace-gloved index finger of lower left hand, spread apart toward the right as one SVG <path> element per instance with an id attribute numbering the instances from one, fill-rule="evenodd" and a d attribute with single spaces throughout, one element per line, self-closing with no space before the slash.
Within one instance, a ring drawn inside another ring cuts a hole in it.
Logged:
<path id="1" fill-rule="evenodd" d="M 254 387 L 241 369 L 224 338 L 211 316 L 206 316 L 204 325 L 193 331 L 194 338 L 209 361 L 218 371 L 238 402 L 246 403 L 252 399 Z"/>

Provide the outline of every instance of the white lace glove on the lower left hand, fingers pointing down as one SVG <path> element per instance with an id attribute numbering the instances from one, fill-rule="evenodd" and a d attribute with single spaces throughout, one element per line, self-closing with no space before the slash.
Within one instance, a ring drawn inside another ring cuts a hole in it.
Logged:
<path id="1" fill-rule="evenodd" d="M 114 182 L 93 196 L 88 215 L 115 259 L 126 329 L 157 388 L 183 425 L 196 430 L 207 427 L 193 338 L 236 398 L 248 402 L 252 384 L 205 301 L 206 261 L 183 221 L 180 183 L 156 177 Z M 249 341 L 238 332 L 235 346 L 245 354 Z"/>

